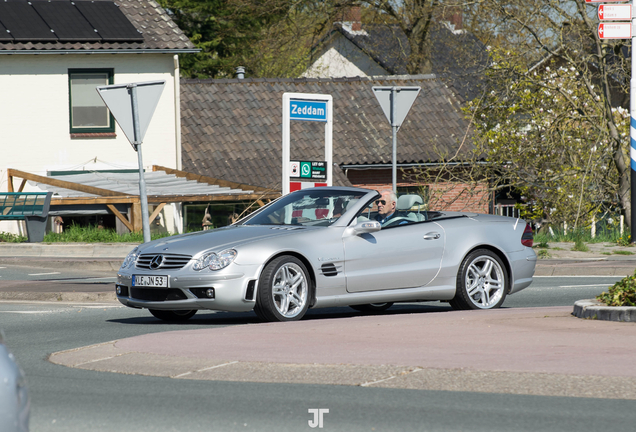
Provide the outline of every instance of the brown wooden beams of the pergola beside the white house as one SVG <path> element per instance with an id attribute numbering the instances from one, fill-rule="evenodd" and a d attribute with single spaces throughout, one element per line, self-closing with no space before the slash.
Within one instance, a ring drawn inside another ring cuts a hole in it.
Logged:
<path id="1" fill-rule="evenodd" d="M 246 193 L 214 193 L 214 194 L 193 194 L 193 195 L 148 195 L 148 204 L 157 205 L 155 210 L 149 217 L 152 222 L 163 207 L 168 203 L 183 203 L 183 202 L 210 202 L 210 201 L 253 201 L 259 207 L 265 205 L 272 199 L 276 199 L 280 196 L 280 191 L 273 191 L 271 189 L 265 189 L 258 186 L 251 186 L 242 183 L 234 183 L 226 180 L 216 179 L 213 177 L 202 176 L 186 171 L 180 171 L 172 168 L 166 168 L 159 165 L 153 165 L 152 171 L 163 171 L 166 174 L 172 174 L 179 178 L 185 178 L 187 180 L 193 180 L 198 183 L 206 183 L 210 186 L 219 186 L 231 189 L 240 189 L 249 191 Z M 139 195 L 124 194 L 109 189 L 98 188 L 94 186 L 88 186 L 80 183 L 74 183 L 65 180 L 53 179 L 50 177 L 40 176 L 37 174 L 31 174 L 28 172 L 8 169 L 8 189 L 9 192 L 22 192 L 26 182 L 31 180 L 37 183 L 55 186 L 58 188 L 70 189 L 78 192 L 83 192 L 91 195 L 97 195 L 96 197 L 55 197 L 51 199 L 51 207 L 59 205 L 91 205 L 101 204 L 106 205 L 108 210 L 117 217 L 131 232 L 139 232 L 142 230 L 141 221 L 141 201 Z M 13 179 L 20 178 L 22 182 L 16 190 L 13 185 Z M 129 204 L 130 205 L 130 220 L 124 216 L 117 208 L 116 204 Z"/>

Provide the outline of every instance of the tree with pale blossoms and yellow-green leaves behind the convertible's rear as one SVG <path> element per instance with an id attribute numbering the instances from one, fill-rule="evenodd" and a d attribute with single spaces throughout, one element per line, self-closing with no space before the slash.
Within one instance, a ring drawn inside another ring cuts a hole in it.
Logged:
<path id="1" fill-rule="evenodd" d="M 604 106 L 581 84 L 581 73 L 559 59 L 528 69 L 509 50 L 492 49 L 491 59 L 493 90 L 469 104 L 476 114 L 476 154 L 489 162 L 483 175 L 491 187 L 514 187 L 528 204 L 526 217 L 575 228 L 619 206 Z M 627 110 L 617 107 L 611 114 L 626 131 Z"/>

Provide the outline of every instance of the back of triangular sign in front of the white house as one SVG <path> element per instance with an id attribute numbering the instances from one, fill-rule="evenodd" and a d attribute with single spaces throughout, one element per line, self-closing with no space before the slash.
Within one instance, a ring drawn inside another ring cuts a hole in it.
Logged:
<path id="1" fill-rule="evenodd" d="M 166 81 L 163 80 L 97 87 L 97 92 L 133 146 L 143 142 L 165 85 Z M 138 137 L 135 137 L 133 122 L 132 86 L 137 87 Z"/>

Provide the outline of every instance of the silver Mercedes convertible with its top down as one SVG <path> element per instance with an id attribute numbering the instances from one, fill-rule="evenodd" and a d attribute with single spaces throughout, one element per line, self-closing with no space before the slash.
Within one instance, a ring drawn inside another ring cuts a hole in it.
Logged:
<path id="1" fill-rule="evenodd" d="M 290 321 L 308 308 L 382 311 L 394 302 L 491 309 L 531 284 L 536 255 L 523 220 L 425 211 L 420 196 L 403 195 L 383 226 L 379 198 L 303 189 L 228 227 L 144 243 L 119 269 L 117 298 L 167 321 L 201 309 Z"/>

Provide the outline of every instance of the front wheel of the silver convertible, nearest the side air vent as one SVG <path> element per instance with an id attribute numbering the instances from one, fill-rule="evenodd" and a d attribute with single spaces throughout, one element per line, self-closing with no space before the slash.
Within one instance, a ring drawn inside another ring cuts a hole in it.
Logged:
<path id="1" fill-rule="evenodd" d="M 312 283 L 298 258 L 281 256 L 265 266 L 258 281 L 254 312 L 263 321 L 296 321 L 309 308 Z"/>

